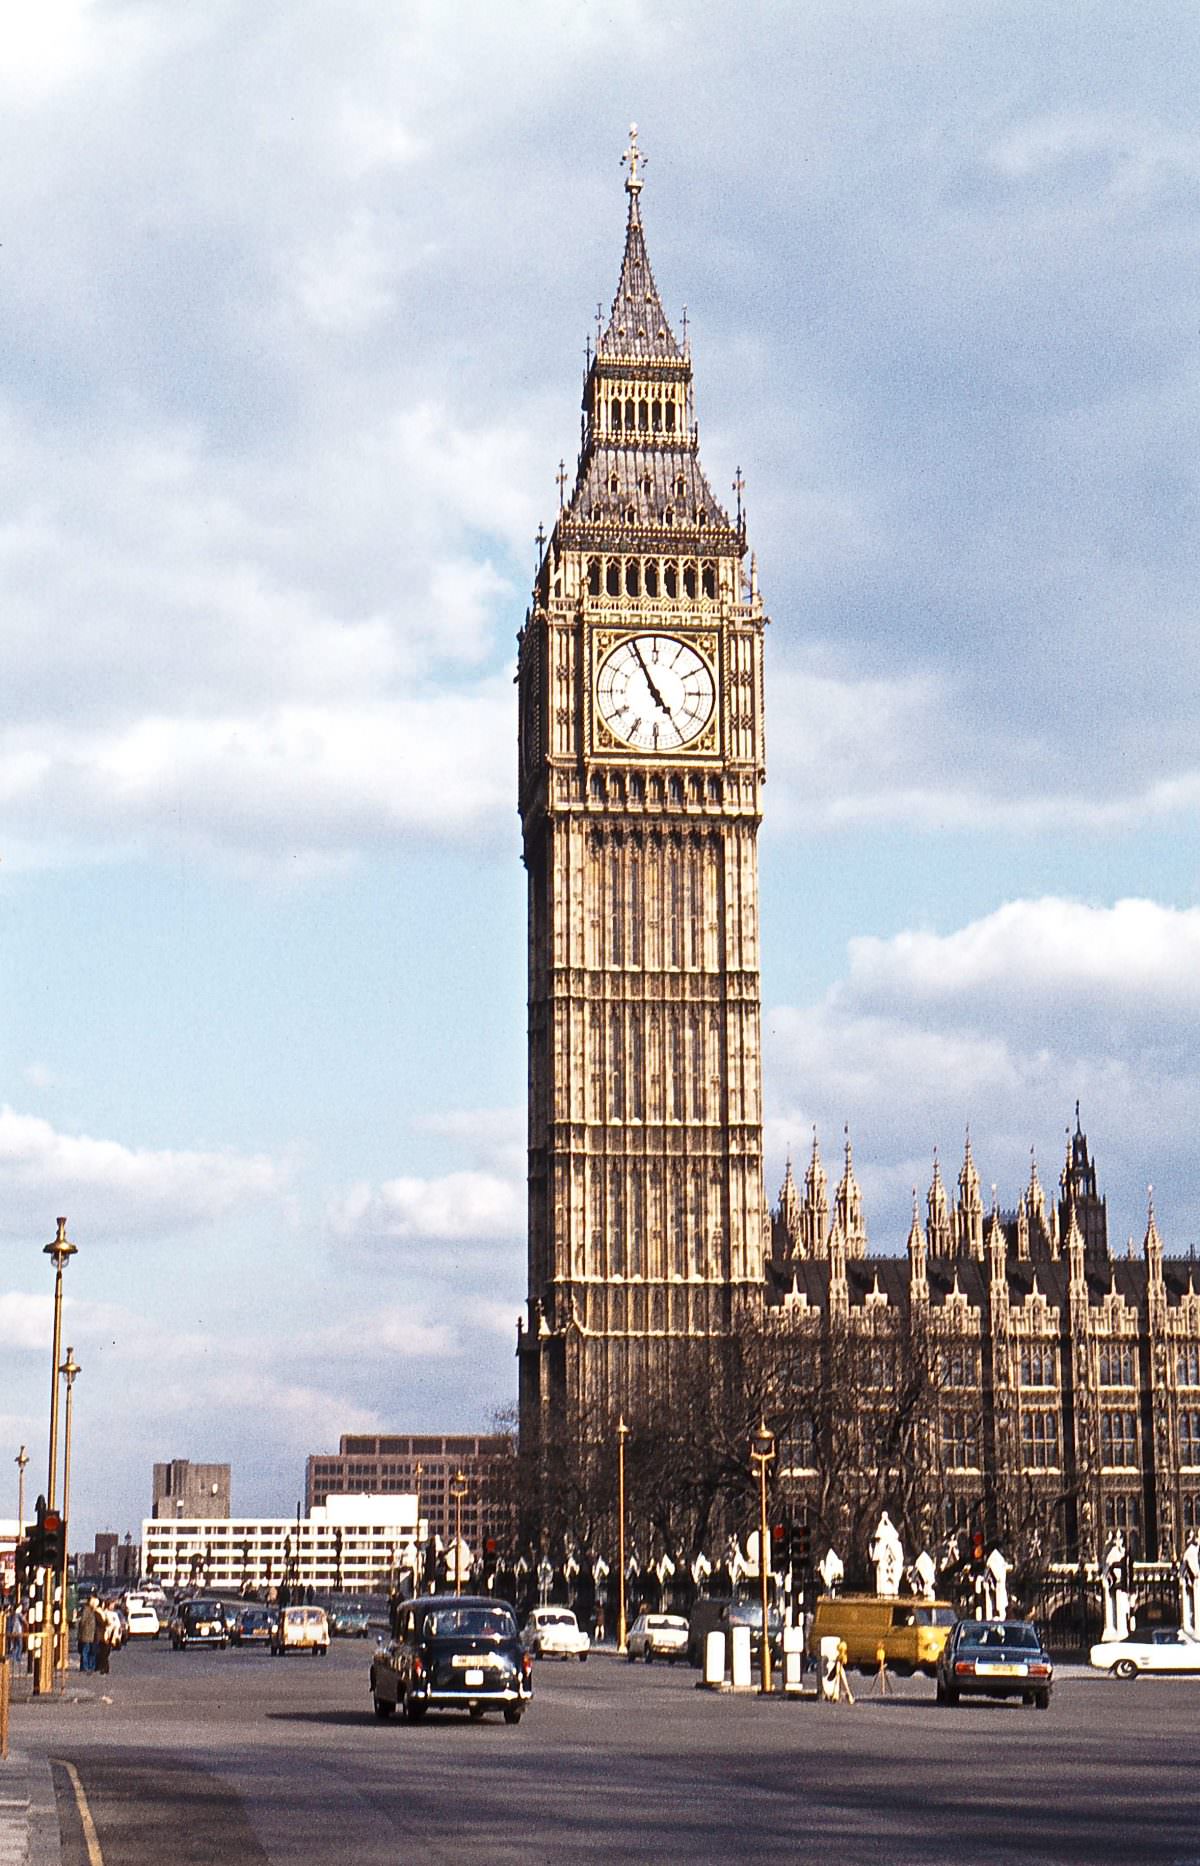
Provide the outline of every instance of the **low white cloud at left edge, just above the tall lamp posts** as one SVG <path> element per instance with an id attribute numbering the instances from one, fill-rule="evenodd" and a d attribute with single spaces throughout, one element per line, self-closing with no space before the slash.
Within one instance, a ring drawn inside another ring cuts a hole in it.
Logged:
<path id="1" fill-rule="evenodd" d="M 284 1170 L 261 1155 L 129 1148 L 58 1133 L 0 1107 L 2 1228 L 30 1237 L 47 1211 L 86 1211 L 90 1235 L 160 1235 L 211 1224 L 237 1205 L 276 1198 Z"/>

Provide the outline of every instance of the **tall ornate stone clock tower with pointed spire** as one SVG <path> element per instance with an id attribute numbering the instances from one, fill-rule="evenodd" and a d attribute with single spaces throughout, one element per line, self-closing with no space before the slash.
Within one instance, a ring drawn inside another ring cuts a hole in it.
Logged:
<path id="1" fill-rule="evenodd" d="M 582 450 L 521 631 L 528 870 L 523 1450 L 543 1461 L 724 1355 L 761 1291 L 763 625 L 700 466 L 646 256 L 636 129 Z"/>

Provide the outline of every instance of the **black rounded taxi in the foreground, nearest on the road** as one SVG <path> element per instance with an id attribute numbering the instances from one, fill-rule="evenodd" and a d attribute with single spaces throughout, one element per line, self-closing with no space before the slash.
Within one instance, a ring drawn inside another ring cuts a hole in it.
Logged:
<path id="1" fill-rule="evenodd" d="M 470 1594 L 424 1594 L 396 1612 L 396 1636 L 371 1659 L 375 1717 L 398 1706 L 411 1724 L 426 1711 L 504 1711 L 519 1724 L 534 1696 L 534 1661 L 521 1650 L 504 1601 Z"/>

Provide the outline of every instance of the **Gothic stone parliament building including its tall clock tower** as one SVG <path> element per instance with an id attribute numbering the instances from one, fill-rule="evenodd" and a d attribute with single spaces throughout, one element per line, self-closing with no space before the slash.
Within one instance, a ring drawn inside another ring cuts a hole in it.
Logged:
<path id="1" fill-rule="evenodd" d="M 1140 1252 L 1110 1252 L 1079 1116 L 1054 1192 L 1034 1166 L 1015 1209 L 984 1204 L 970 1144 L 954 1189 L 935 1163 L 901 1256 L 868 1256 L 849 1140 L 832 1194 L 814 1140 L 802 1185 L 789 1166 L 767 1205 L 767 618 L 741 472 L 730 511 L 700 463 L 636 132 L 625 164 L 579 465 L 560 470 L 519 636 L 523 1455 L 545 1470 L 612 1442 L 698 1344 L 726 1381 L 750 1329 L 812 1375 L 778 1427 L 776 1483 L 823 1530 L 849 1536 L 851 1500 L 886 1502 L 920 1465 L 937 1483 L 911 1498 L 913 1534 L 985 1517 L 1095 1554 L 1120 1526 L 1170 1554 L 1200 1526 L 1200 1291 L 1153 1209 Z"/>

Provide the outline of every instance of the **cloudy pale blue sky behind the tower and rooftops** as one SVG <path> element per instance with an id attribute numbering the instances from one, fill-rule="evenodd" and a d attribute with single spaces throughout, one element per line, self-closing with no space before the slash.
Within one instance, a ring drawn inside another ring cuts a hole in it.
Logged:
<path id="1" fill-rule="evenodd" d="M 524 1289 L 513 636 L 636 118 L 773 616 L 767 1159 L 1200 1235 L 1185 0 L 43 0 L 0 62 L 0 1515 L 480 1429 Z M 11 1487 L 11 1500 L 7 1491 Z"/>

